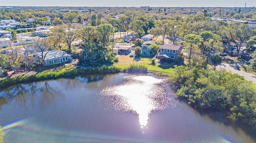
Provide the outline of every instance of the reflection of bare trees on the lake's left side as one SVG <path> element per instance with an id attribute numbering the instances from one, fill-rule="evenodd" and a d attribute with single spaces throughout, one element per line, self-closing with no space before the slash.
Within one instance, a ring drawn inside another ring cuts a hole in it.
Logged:
<path id="1" fill-rule="evenodd" d="M 24 109 L 31 108 L 38 101 L 41 109 L 46 108 L 56 102 L 57 97 L 63 97 L 63 93 L 52 88 L 48 82 L 49 80 L 40 82 L 41 84 L 18 84 L 11 89 L 0 91 L 0 110 L 2 110 L 2 105 L 7 104 L 10 100 L 15 100 L 15 105 Z M 37 99 L 38 97 L 40 99 Z"/>

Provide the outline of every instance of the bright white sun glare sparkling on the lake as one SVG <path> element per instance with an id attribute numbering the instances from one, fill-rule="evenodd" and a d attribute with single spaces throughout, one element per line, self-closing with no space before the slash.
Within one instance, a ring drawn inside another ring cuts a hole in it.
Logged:
<path id="1" fill-rule="evenodd" d="M 154 76 L 124 76 L 124 82 L 108 86 L 100 94 L 107 97 L 115 110 L 138 114 L 140 126 L 144 128 L 152 111 L 168 106 L 170 98 L 164 81 Z"/>

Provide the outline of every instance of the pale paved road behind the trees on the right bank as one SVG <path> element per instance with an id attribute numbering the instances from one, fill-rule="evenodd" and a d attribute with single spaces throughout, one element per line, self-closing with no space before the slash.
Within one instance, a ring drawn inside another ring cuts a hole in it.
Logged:
<path id="1" fill-rule="evenodd" d="M 237 69 L 234 69 L 234 67 L 231 67 L 229 64 L 223 64 L 222 63 L 222 64 L 218 65 L 217 67 L 220 68 L 220 69 L 225 69 L 225 71 L 231 71 L 232 73 L 237 73 L 240 76 L 244 76 L 244 79 L 250 80 L 253 83 L 256 83 L 256 76 L 255 75 L 250 74 L 250 73 L 245 72 L 245 71 L 239 71 Z"/>

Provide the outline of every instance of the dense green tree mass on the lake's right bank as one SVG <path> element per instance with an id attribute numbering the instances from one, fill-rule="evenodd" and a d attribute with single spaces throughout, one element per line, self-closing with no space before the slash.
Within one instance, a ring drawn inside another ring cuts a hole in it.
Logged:
<path id="1" fill-rule="evenodd" d="M 256 88 L 251 81 L 231 72 L 210 70 L 206 66 L 179 66 L 171 82 L 176 95 L 199 109 L 227 110 L 228 118 L 256 130 Z"/>

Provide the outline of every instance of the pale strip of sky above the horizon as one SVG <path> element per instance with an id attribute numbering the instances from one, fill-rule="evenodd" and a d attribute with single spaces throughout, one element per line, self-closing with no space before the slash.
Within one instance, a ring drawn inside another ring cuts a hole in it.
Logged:
<path id="1" fill-rule="evenodd" d="M 256 0 L 0 0 L 0 6 L 256 7 Z"/>

